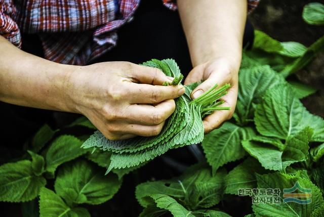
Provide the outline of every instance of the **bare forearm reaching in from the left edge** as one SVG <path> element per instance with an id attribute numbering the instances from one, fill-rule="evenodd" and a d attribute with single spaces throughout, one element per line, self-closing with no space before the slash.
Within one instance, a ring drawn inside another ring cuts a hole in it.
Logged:
<path id="1" fill-rule="evenodd" d="M 0 101 L 73 112 L 68 79 L 75 66 L 25 53 L 0 36 Z"/>

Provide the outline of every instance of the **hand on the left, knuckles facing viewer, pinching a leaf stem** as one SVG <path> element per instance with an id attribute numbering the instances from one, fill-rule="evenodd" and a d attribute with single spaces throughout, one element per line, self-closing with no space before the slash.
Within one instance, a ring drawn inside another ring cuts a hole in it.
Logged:
<path id="1" fill-rule="evenodd" d="M 67 93 L 76 113 L 84 114 L 109 140 L 156 136 L 184 93 L 157 68 L 130 62 L 77 66 Z"/>

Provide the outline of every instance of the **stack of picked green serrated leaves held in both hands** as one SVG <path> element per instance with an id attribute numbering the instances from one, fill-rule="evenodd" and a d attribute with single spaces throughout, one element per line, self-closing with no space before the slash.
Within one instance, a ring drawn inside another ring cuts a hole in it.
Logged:
<path id="1" fill-rule="evenodd" d="M 167 76 L 174 77 L 172 83 L 164 83 L 164 85 L 176 85 L 183 78 L 178 65 L 172 59 L 162 61 L 153 59 L 143 63 L 143 65 L 159 68 Z M 191 100 L 190 93 L 197 85 L 198 83 L 193 83 L 185 86 L 185 94 L 175 100 L 175 111 L 168 118 L 158 136 L 111 141 L 97 131 L 82 147 L 111 151 L 111 162 L 107 169 L 107 172 L 109 172 L 113 168 L 138 166 L 164 154 L 169 149 L 200 143 L 204 139 L 202 117 L 215 110 L 229 109 L 229 107 L 220 107 L 224 102 L 219 101 L 219 99 L 227 93 L 226 90 L 230 85 L 225 84 L 217 89 L 218 85 L 216 84 L 200 97 Z"/>

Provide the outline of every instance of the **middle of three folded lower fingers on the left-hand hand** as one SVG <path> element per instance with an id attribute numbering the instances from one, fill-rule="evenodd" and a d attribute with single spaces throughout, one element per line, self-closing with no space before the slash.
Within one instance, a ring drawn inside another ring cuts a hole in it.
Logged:
<path id="1" fill-rule="evenodd" d="M 133 104 L 128 107 L 126 121 L 135 124 L 158 125 L 174 112 L 174 100 L 166 100 L 155 106 Z"/>

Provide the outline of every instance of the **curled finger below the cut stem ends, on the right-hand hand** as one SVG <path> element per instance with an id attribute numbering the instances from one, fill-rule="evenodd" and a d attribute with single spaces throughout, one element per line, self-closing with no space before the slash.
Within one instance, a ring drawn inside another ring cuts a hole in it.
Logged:
<path id="1" fill-rule="evenodd" d="M 230 110 L 217 110 L 214 113 L 206 116 L 203 120 L 204 123 L 204 131 L 205 134 L 211 132 L 213 129 L 220 127 L 220 125 L 230 119 L 234 113 L 236 100 L 237 100 L 237 92 L 235 89 L 231 88 L 228 90 L 228 94 L 225 95 L 222 100 L 224 104 L 222 107 L 230 107 Z"/>

